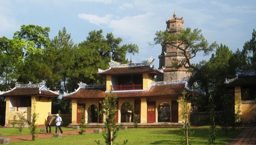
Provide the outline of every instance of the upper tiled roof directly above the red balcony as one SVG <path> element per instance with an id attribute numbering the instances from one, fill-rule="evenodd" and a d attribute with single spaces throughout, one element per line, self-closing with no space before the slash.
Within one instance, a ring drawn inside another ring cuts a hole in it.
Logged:
<path id="1" fill-rule="evenodd" d="M 154 73 L 156 75 L 162 75 L 162 72 L 151 69 L 149 66 L 137 66 L 137 67 L 124 67 L 124 68 L 111 68 L 104 72 L 99 72 L 99 76 L 107 75 L 133 75 L 133 74 L 142 74 L 142 73 Z"/>

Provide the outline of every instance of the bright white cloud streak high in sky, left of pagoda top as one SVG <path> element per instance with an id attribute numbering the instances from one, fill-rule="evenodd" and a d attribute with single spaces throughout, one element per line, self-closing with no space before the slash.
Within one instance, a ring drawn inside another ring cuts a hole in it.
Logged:
<path id="1" fill-rule="evenodd" d="M 105 15 L 104 17 L 99 17 L 97 15 L 80 13 L 78 14 L 78 17 L 81 19 L 88 20 L 92 24 L 101 26 L 108 25 L 108 23 L 111 21 L 112 15 Z"/>

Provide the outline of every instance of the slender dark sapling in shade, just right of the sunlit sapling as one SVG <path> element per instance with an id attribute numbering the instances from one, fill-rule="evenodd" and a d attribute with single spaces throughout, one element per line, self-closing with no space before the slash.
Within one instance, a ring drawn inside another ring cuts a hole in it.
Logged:
<path id="1" fill-rule="evenodd" d="M 215 124 L 215 105 L 212 96 L 209 97 L 209 104 L 208 109 L 210 112 L 210 135 L 209 135 L 209 142 L 214 144 L 216 139 L 216 124 Z"/>

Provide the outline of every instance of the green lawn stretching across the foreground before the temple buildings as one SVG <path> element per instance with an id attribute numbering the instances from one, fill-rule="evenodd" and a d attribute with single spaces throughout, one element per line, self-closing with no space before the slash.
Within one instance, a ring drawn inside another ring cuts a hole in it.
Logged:
<path id="1" fill-rule="evenodd" d="M 24 134 L 29 129 L 24 129 Z M 54 128 L 55 130 L 55 128 Z M 63 127 L 63 131 L 72 130 Z M 195 131 L 191 145 L 207 145 L 209 129 L 207 128 L 193 128 Z M 225 135 L 224 130 L 217 129 L 216 144 L 226 145 L 230 139 L 234 139 L 243 128 L 237 128 L 235 131 L 229 131 L 228 135 Z M 179 128 L 133 128 L 128 130 L 120 130 L 117 133 L 117 138 L 114 141 L 114 145 L 122 145 L 123 140 L 128 139 L 127 145 L 179 145 Z M 5 136 L 7 132 L 18 132 L 13 128 L 0 128 Z M 16 133 L 17 134 L 17 133 Z M 11 142 L 9 145 L 49 145 L 49 144 L 67 144 L 67 145 L 97 145 L 94 140 L 100 140 L 102 145 L 105 145 L 102 134 L 86 133 L 83 135 L 65 136 L 62 138 L 49 138 L 49 139 L 36 139 L 34 141 L 19 141 Z"/>

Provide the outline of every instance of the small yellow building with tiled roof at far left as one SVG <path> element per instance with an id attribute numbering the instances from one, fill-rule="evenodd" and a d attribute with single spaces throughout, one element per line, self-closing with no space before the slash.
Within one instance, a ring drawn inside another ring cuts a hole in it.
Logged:
<path id="1" fill-rule="evenodd" d="M 52 98 L 59 97 L 59 92 L 51 91 L 45 86 L 45 82 L 39 84 L 15 84 L 15 87 L 6 92 L 0 92 L 0 97 L 6 98 L 5 126 L 12 126 L 14 115 L 16 120 L 19 114 L 25 115 L 27 124 L 32 120 L 31 113 L 39 113 L 36 123 L 42 127 L 46 124 L 48 112 L 52 110 Z M 35 100 L 35 104 L 33 101 Z"/>

